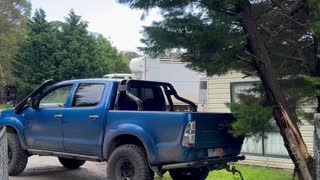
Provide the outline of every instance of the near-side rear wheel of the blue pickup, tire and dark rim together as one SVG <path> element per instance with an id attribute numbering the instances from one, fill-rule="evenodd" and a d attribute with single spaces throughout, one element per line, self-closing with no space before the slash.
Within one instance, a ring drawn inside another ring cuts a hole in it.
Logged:
<path id="1" fill-rule="evenodd" d="M 144 150 L 133 144 L 116 148 L 107 164 L 107 180 L 152 180 Z"/>

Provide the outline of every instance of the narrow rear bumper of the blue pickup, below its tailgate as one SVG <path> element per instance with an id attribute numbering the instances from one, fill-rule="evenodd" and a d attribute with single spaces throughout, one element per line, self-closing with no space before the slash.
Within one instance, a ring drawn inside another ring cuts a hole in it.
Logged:
<path id="1" fill-rule="evenodd" d="M 163 165 L 163 170 L 170 170 L 170 169 L 181 169 L 181 168 L 199 168 L 204 166 L 209 166 L 212 164 L 226 164 L 229 162 L 237 162 L 239 160 L 244 160 L 245 156 L 231 156 L 231 157 L 224 157 L 224 158 L 216 158 L 216 159 L 206 159 L 200 161 L 191 161 L 185 163 L 177 163 L 177 164 L 167 164 Z"/>

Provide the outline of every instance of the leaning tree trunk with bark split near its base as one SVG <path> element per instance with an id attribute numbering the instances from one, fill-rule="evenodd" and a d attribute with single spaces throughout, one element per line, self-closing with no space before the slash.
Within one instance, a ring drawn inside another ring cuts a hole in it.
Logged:
<path id="1" fill-rule="evenodd" d="M 274 69 L 271 65 L 270 56 L 258 33 L 257 24 L 251 11 L 248 0 L 240 1 L 240 10 L 243 13 L 242 23 L 248 34 L 249 48 L 255 56 L 255 68 L 266 90 L 268 99 L 273 103 L 273 115 L 280 129 L 284 145 L 288 150 L 298 176 L 303 180 L 314 178 L 315 166 L 313 159 L 308 153 L 296 123 L 288 111 L 287 102 L 281 93 Z"/>

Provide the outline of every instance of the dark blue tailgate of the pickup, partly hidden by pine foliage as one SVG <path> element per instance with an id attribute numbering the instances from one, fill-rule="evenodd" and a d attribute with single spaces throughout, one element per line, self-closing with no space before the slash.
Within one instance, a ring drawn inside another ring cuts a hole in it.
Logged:
<path id="1" fill-rule="evenodd" d="M 230 113 L 191 113 L 196 121 L 195 148 L 222 148 L 224 156 L 240 154 L 243 137 L 235 138 L 229 133 L 235 120 Z"/>

